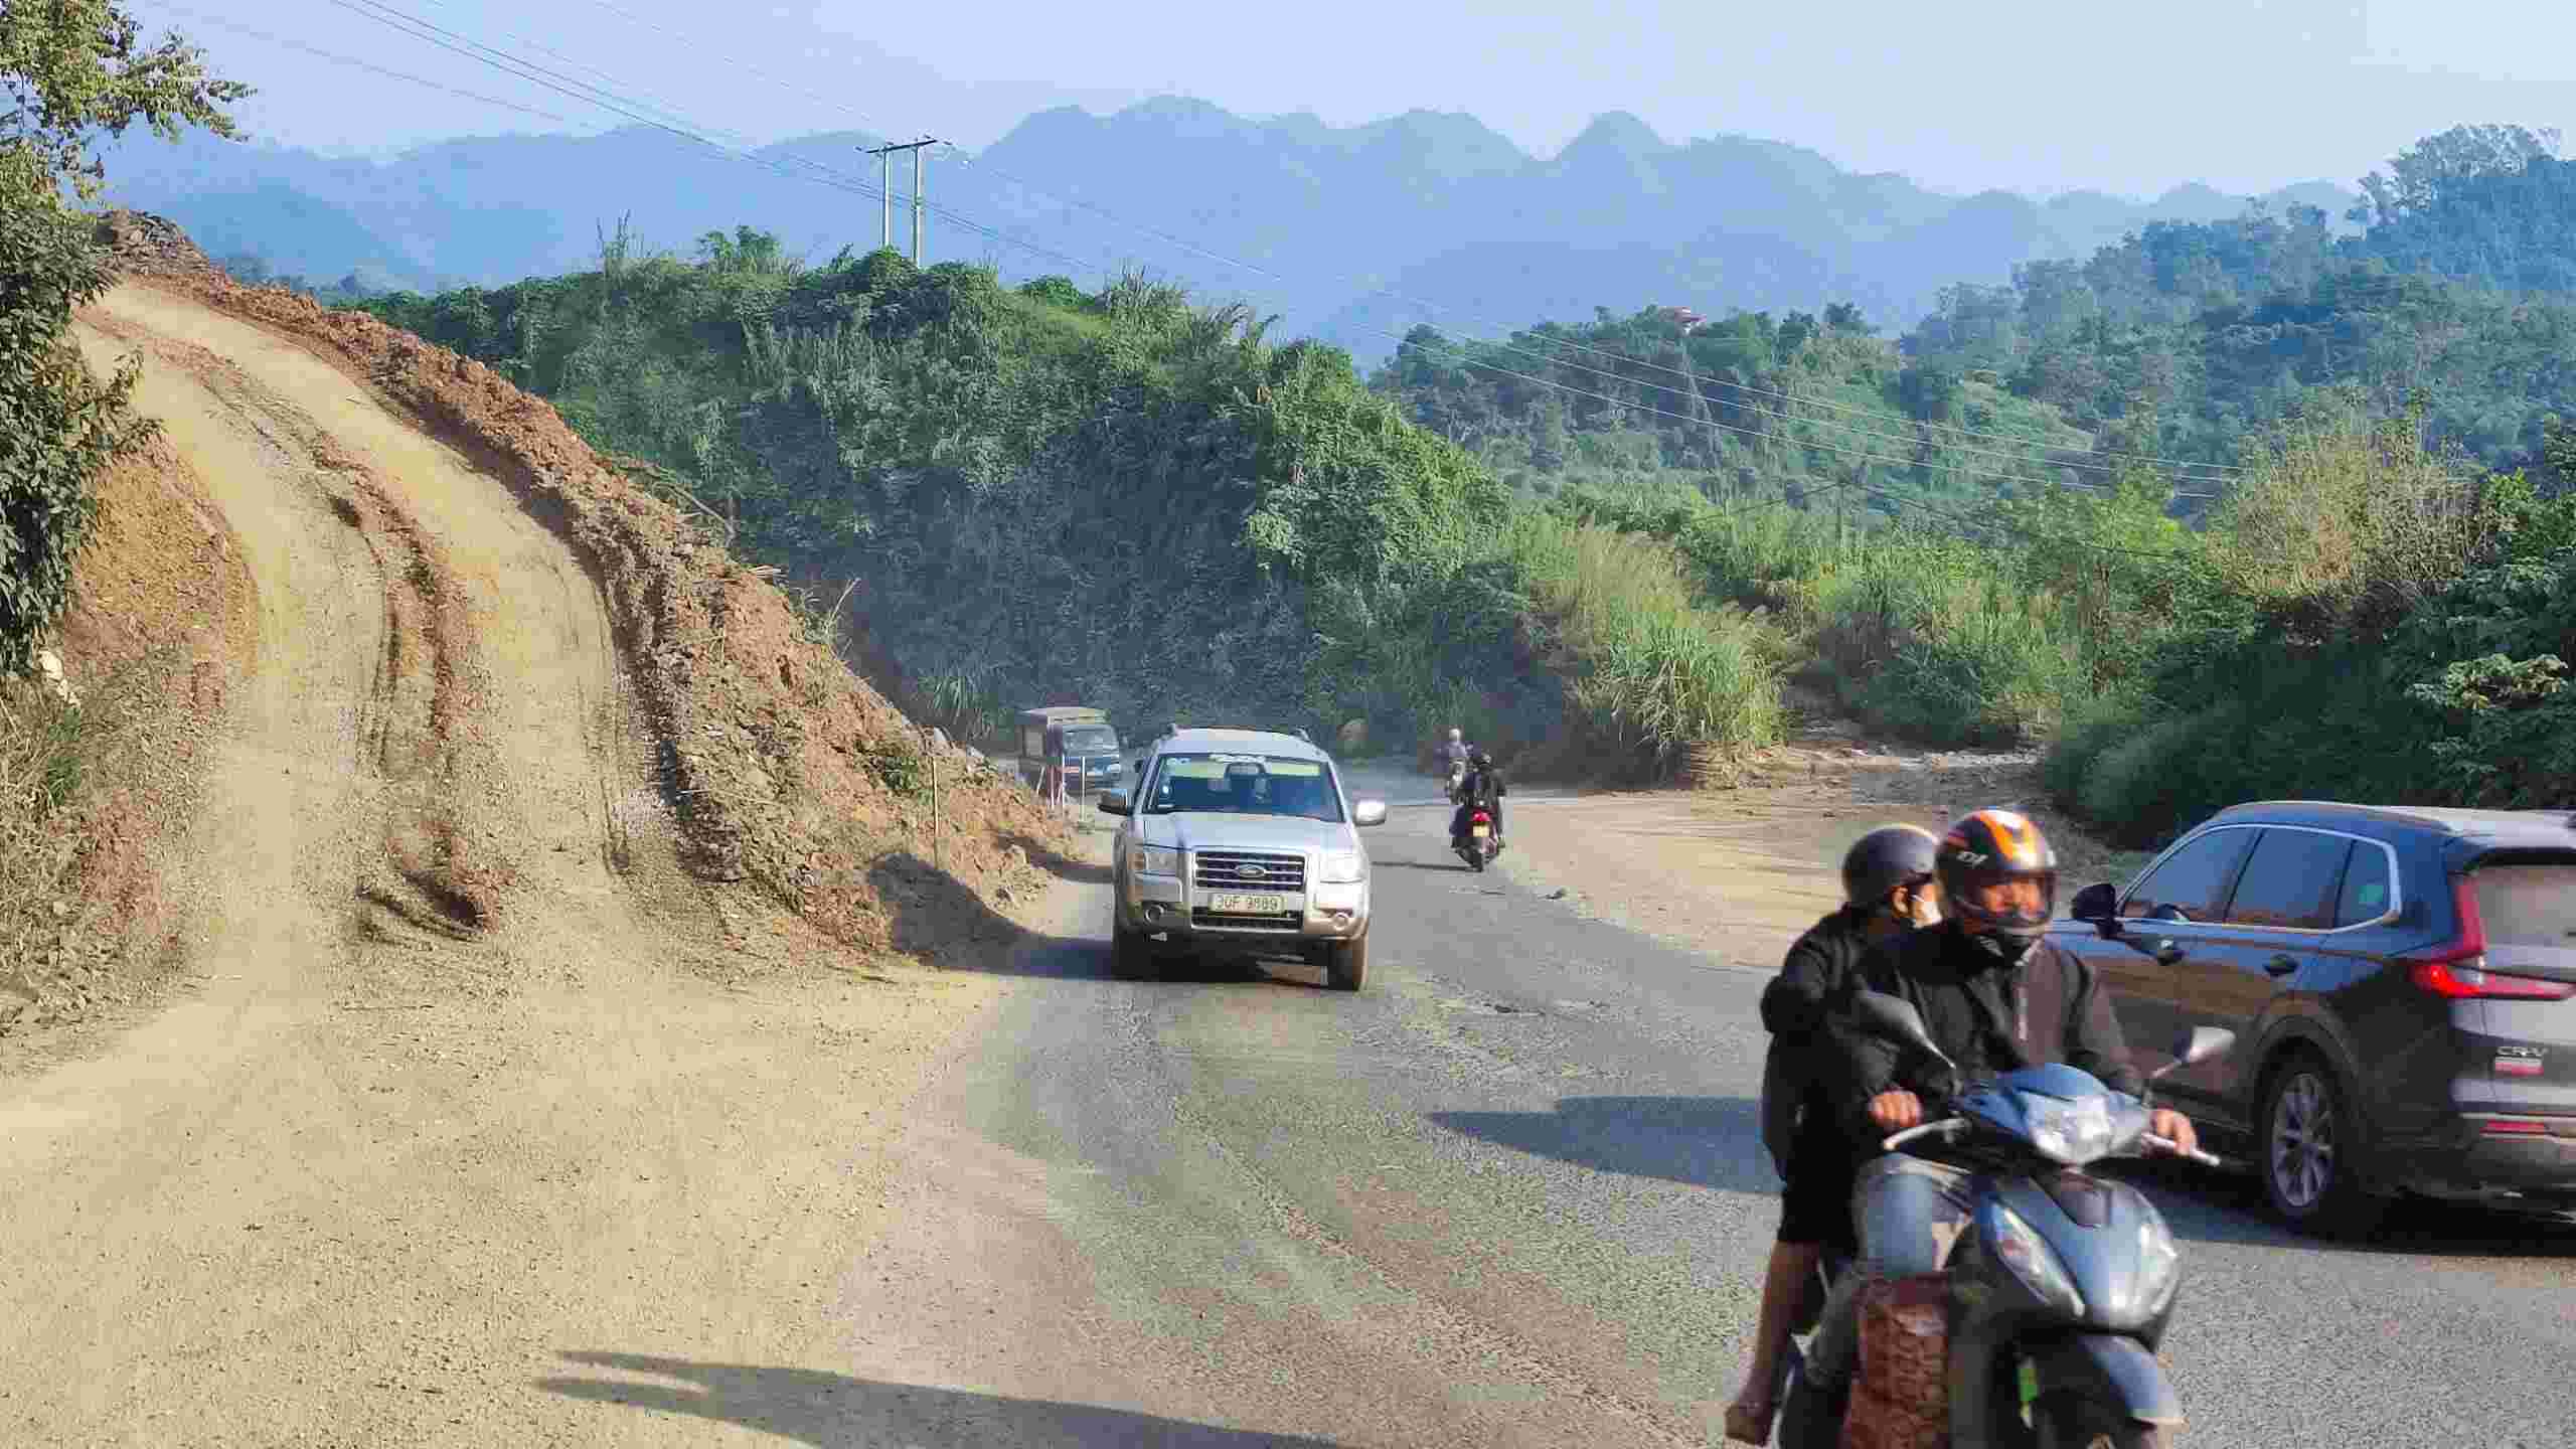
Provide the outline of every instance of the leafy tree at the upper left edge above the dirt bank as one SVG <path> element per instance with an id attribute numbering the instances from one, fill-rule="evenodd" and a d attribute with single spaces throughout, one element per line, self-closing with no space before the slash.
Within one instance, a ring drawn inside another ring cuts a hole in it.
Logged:
<path id="1" fill-rule="evenodd" d="M 98 382 L 70 343 L 72 309 L 108 271 L 62 188 L 98 196 L 98 131 L 229 137 L 222 106 L 250 95 L 209 77 L 183 39 L 139 36 L 108 0 L 0 5 L 0 673 L 26 673 L 70 603 L 98 513 L 90 480 L 144 431 L 126 413 L 134 369 Z"/>

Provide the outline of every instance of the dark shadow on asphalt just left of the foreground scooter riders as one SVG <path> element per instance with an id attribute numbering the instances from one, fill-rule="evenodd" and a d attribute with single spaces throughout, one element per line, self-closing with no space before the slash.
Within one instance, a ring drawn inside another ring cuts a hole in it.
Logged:
<path id="1" fill-rule="evenodd" d="M 1556 1111 L 1435 1111 L 1450 1132 L 1602 1173 L 1777 1191 L 1762 1106 L 1744 1096 L 1569 1096 Z"/>

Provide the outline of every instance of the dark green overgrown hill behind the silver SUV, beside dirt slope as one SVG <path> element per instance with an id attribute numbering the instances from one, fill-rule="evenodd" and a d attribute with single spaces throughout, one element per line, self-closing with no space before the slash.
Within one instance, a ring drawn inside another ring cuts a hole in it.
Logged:
<path id="1" fill-rule="evenodd" d="M 1522 624 L 1530 559 L 1566 583 L 1530 529 L 1564 523 L 1515 521 L 1345 353 L 1273 345 L 1242 307 L 896 253 L 804 268 L 737 229 L 693 263 L 611 237 L 592 273 L 368 309 L 554 400 L 817 596 L 848 590 L 878 673 L 969 732 L 1082 699 L 1128 727 L 1561 735 L 1569 681 L 1533 668 L 1561 639 Z"/>

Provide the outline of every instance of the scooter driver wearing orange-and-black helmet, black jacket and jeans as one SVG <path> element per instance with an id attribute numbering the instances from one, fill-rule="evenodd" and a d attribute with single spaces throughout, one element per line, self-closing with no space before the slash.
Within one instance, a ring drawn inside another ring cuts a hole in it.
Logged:
<path id="1" fill-rule="evenodd" d="M 1971 1080 L 2066 1062 L 2112 1091 L 2143 1080 L 2112 1016 L 2110 993 L 2071 951 L 2043 941 L 2058 897 L 2058 853 L 2025 815 L 1976 810 L 1935 853 L 1947 923 L 1896 936 L 1862 957 L 1850 990 L 1914 1003 L 1932 1042 L 1958 1065 L 1917 1062 L 1899 1047 L 1834 1021 L 1837 1067 L 1826 1091 L 1844 1127 L 1875 1145 L 1924 1122 L 1924 1096 Z M 2156 1109 L 2151 1132 L 2197 1147 L 2192 1122 Z M 1968 1173 L 1909 1152 L 1860 1168 L 1852 1225 L 1862 1263 L 1834 1284 L 1808 1343 L 1806 1377 L 1780 1413 L 1783 1449 L 1832 1449 L 1860 1356 L 1860 1289 L 1870 1276 L 1935 1274 L 1968 1222 Z"/>

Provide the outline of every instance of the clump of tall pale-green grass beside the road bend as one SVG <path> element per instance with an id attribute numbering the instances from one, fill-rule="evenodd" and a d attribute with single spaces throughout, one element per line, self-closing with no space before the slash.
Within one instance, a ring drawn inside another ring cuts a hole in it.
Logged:
<path id="1" fill-rule="evenodd" d="M 1510 557 L 1553 624 L 1582 748 L 1628 776 L 1669 776 L 1703 748 L 1780 737 L 1783 639 L 1734 606 L 1700 603 L 1669 544 L 1525 516 Z"/>

